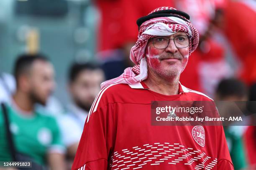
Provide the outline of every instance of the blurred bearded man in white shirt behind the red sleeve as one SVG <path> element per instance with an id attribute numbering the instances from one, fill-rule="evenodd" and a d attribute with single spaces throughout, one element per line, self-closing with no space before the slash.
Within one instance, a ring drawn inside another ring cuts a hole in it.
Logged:
<path id="1" fill-rule="evenodd" d="M 93 100 L 100 91 L 104 73 L 92 64 L 73 63 L 69 70 L 69 92 L 73 103 L 68 107 L 68 114 L 59 119 L 62 138 L 67 147 L 67 155 L 74 159 L 79 140 Z"/>

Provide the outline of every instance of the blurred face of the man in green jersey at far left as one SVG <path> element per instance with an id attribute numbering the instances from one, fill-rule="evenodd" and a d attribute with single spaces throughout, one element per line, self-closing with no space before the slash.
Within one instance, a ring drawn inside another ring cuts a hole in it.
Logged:
<path id="1" fill-rule="evenodd" d="M 41 105 L 46 105 L 46 101 L 55 86 L 52 64 L 42 60 L 33 62 L 28 81 L 28 93 L 31 100 Z"/>

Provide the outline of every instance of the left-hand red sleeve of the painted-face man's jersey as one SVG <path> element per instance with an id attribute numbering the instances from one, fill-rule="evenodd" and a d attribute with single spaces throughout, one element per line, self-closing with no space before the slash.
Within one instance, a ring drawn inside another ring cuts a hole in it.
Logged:
<path id="1" fill-rule="evenodd" d="M 107 170 L 115 139 L 113 119 L 111 104 L 88 115 L 72 170 Z"/>

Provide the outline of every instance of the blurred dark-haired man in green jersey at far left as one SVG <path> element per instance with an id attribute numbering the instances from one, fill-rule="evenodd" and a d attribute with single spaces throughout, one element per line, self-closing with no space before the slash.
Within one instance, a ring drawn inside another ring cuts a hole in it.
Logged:
<path id="1" fill-rule="evenodd" d="M 16 60 L 14 76 L 17 90 L 6 110 L 15 151 L 9 149 L 8 130 L 1 108 L 0 160 L 12 161 L 15 159 L 13 155 L 19 154 L 38 165 L 49 165 L 52 170 L 64 170 L 64 147 L 56 120 L 34 109 L 35 103 L 45 105 L 54 89 L 53 65 L 40 54 L 21 55 Z"/>

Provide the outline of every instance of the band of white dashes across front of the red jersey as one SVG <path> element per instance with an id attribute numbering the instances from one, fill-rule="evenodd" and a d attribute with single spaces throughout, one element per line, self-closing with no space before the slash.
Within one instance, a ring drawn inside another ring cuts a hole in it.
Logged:
<path id="1" fill-rule="evenodd" d="M 109 164 L 111 170 L 136 170 L 145 165 L 157 166 L 184 164 L 195 170 L 211 170 L 217 165 L 217 158 L 211 158 L 201 150 L 186 148 L 179 143 L 154 143 L 115 151 Z"/>

